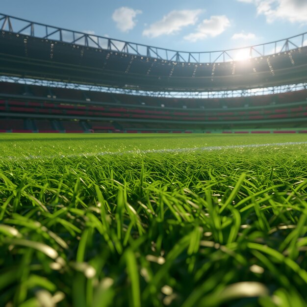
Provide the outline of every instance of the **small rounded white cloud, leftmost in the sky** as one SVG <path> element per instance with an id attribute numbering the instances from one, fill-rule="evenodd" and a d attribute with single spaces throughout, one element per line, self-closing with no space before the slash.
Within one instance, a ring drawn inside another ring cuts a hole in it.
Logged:
<path id="1" fill-rule="evenodd" d="M 134 10 L 133 8 L 122 6 L 113 12 L 112 19 L 122 32 L 128 32 L 136 25 L 136 15 L 141 13 L 142 11 L 140 10 Z"/>

